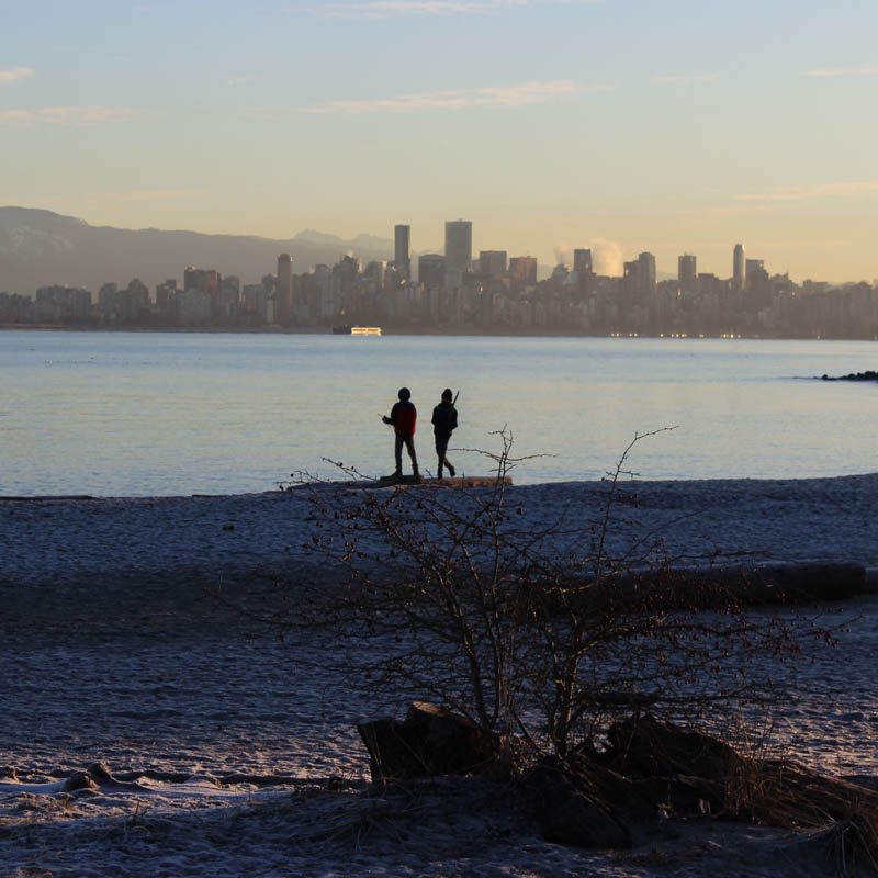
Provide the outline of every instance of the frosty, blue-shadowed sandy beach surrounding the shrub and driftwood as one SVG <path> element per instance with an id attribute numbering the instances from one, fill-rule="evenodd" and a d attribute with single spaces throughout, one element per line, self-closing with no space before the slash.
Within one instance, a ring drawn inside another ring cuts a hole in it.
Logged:
<path id="1" fill-rule="evenodd" d="M 878 474 L 626 487 L 638 499 L 612 529 L 618 551 L 662 533 L 687 559 L 878 567 Z M 606 491 L 509 497 L 517 527 L 552 526 L 562 551 Z M 631 852 L 583 852 L 544 842 L 489 781 L 370 788 L 356 722 L 401 714 L 405 697 L 354 691 L 315 671 L 331 644 L 302 655 L 212 598 L 254 576 L 340 575 L 307 549 L 311 496 L 0 499 L 0 875 L 826 874 L 802 833 L 668 821 Z M 878 598 L 809 610 L 845 630 L 764 727 L 795 758 L 874 783 Z M 111 775 L 71 788 L 95 763 Z"/>

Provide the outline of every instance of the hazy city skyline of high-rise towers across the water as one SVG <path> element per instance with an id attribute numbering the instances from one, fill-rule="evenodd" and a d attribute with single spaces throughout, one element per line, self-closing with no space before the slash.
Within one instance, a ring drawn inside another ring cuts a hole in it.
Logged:
<path id="1" fill-rule="evenodd" d="M 446 222 L 444 255 L 419 255 L 416 279 L 410 227 L 397 224 L 390 261 L 364 264 L 347 252 L 296 274 L 282 252 L 277 273 L 262 273 L 258 283 L 191 264 L 182 285 L 166 279 L 155 297 L 137 277 L 127 286 L 103 282 L 97 302 L 92 291 L 67 284 L 40 286 L 35 300 L 0 292 L 0 326 L 351 333 L 365 324 L 380 335 L 383 324 L 415 333 L 878 338 L 878 283 L 797 284 L 772 274 L 764 259 L 747 258 L 740 243 L 729 278 L 699 272 L 697 256 L 683 254 L 677 278 L 663 280 L 646 251 L 626 261 L 621 275 L 607 275 L 590 249 L 576 248 L 572 270 L 562 261 L 539 280 L 530 256 L 480 250 L 474 259 L 472 233 L 470 221 Z"/>

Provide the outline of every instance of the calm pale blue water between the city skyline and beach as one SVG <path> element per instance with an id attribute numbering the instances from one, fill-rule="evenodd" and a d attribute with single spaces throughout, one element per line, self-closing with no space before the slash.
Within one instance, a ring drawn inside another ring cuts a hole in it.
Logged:
<path id="1" fill-rule="evenodd" d="M 269 491 L 294 471 L 393 470 L 379 419 L 412 389 L 429 417 L 460 390 L 451 447 L 496 449 L 516 482 L 599 479 L 635 432 L 644 479 L 802 477 L 878 470 L 878 344 L 330 335 L 0 333 L 0 495 Z M 489 464 L 449 452 L 462 471 Z M 406 460 L 407 468 L 407 460 Z"/>

